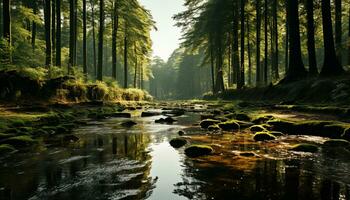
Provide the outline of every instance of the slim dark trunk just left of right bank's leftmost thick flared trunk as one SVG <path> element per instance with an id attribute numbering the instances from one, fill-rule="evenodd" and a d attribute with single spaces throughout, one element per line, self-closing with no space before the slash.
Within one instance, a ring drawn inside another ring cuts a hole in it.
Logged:
<path id="1" fill-rule="evenodd" d="M 277 0 L 273 0 L 272 4 L 272 13 L 273 13 L 273 23 L 272 23 L 272 31 L 273 35 L 271 43 L 273 43 L 273 51 L 272 51 L 272 78 L 274 81 L 279 79 L 279 67 L 278 67 L 278 16 L 277 9 L 278 2 Z"/>

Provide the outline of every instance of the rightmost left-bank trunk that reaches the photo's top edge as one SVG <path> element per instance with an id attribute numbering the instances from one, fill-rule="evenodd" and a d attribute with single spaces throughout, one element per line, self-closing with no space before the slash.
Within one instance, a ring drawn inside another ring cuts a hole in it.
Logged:
<path id="1" fill-rule="evenodd" d="M 118 32 L 118 0 L 114 1 L 112 30 L 112 77 L 117 80 L 117 32 Z"/>

